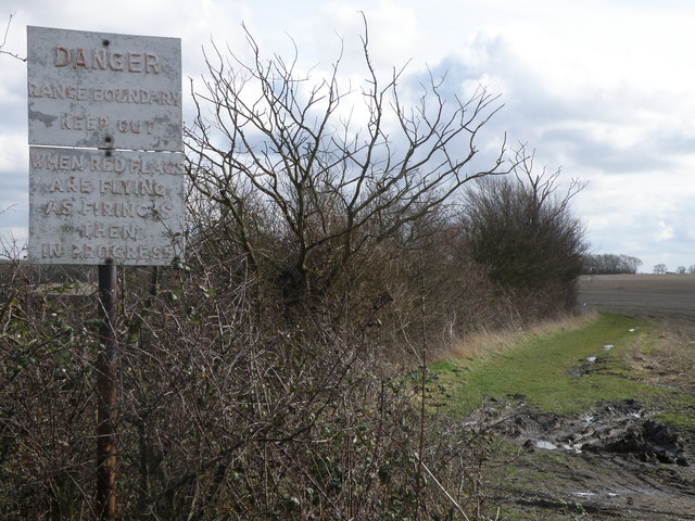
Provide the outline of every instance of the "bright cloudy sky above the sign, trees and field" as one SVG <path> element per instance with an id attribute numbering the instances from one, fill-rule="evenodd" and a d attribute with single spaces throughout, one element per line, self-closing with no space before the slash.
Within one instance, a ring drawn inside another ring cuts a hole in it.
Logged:
<path id="1" fill-rule="evenodd" d="M 350 59 L 359 11 L 380 72 L 408 63 L 406 85 L 429 67 L 452 91 L 485 86 L 504 103 L 491 140 L 506 132 L 536 166 L 587 182 L 573 211 L 594 253 L 639 257 L 646 272 L 695 265 L 691 0 L 0 0 L 3 31 L 13 15 L 0 55 L 0 249 L 28 227 L 26 64 L 8 54 L 26 55 L 27 25 L 178 37 L 185 78 L 200 78 L 201 49 L 242 49 L 242 23 L 268 54 L 293 40 L 302 66 L 328 67 L 341 39 Z"/>

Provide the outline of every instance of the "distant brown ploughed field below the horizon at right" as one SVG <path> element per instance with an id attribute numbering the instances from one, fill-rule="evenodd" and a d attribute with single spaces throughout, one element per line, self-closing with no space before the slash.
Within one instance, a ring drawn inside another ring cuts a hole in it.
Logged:
<path id="1" fill-rule="evenodd" d="M 695 323 L 695 275 L 584 276 L 578 303 L 602 312 Z"/>

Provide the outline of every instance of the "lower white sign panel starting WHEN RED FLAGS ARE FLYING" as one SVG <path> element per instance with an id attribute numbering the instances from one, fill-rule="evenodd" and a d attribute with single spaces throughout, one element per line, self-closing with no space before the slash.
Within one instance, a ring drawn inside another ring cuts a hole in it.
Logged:
<path id="1" fill-rule="evenodd" d="M 184 154 L 29 148 L 29 257 L 166 265 L 184 247 Z"/>

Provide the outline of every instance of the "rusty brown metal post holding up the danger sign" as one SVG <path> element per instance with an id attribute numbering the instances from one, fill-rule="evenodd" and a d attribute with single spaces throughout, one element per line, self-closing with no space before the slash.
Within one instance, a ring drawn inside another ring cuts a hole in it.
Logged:
<path id="1" fill-rule="evenodd" d="M 99 328 L 97 357 L 97 508 L 101 521 L 116 519 L 116 266 L 112 259 L 99 266 Z"/>

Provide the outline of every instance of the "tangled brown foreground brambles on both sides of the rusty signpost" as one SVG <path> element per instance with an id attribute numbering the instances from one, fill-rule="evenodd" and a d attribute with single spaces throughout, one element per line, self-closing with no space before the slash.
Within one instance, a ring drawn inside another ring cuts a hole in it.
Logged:
<path id="1" fill-rule="evenodd" d="M 454 455 L 473 436 L 420 430 L 417 385 L 380 369 L 381 332 L 320 314 L 290 327 L 238 267 L 200 268 L 122 270 L 123 519 L 442 519 L 472 508 Z M 28 280 L 21 269 L 3 295 Z M 0 514 L 94 519 L 96 302 L 14 293 L 0 352 Z"/>

